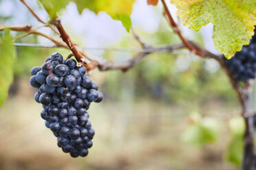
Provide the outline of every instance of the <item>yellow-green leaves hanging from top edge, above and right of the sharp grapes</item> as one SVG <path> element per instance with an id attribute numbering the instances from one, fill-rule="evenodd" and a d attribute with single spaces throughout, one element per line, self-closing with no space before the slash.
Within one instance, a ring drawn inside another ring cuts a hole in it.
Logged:
<path id="1" fill-rule="evenodd" d="M 65 6 L 70 3 L 70 1 L 74 1 L 76 3 L 78 12 L 83 12 L 85 8 L 92 10 L 96 13 L 100 11 L 107 12 L 113 19 L 121 21 L 122 25 L 124 25 L 127 32 L 129 32 L 131 28 L 131 19 L 130 14 L 132 11 L 132 5 L 135 0 L 123 0 L 123 1 L 115 1 L 115 0 L 40 0 L 43 4 L 45 10 L 50 15 L 50 18 L 53 19 L 60 10 L 65 8 Z"/>

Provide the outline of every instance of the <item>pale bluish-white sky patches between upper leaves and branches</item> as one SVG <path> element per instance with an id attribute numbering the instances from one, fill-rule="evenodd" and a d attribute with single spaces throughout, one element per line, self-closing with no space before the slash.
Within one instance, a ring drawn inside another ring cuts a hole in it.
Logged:
<path id="1" fill-rule="evenodd" d="M 28 1 L 28 3 L 36 13 L 39 14 L 41 19 L 47 21 L 46 12 L 38 7 L 38 3 L 36 3 L 36 1 Z M 169 4 L 169 9 L 173 14 L 175 21 L 179 23 L 184 36 L 186 36 L 186 38 L 191 38 L 192 35 L 190 34 L 188 27 L 182 26 L 182 23 L 178 21 L 175 14 L 177 11 L 175 6 L 171 5 L 169 0 L 167 1 L 167 4 Z M 7 23 L 2 23 L 3 21 L 0 20 L 0 24 L 25 25 L 28 24 L 29 18 L 31 25 L 34 27 L 41 26 L 41 23 L 34 19 L 30 12 L 28 12 L 28 9 L 25 8 L 19 0 L 1 0 L 0 14 L 2 16 L 14 15 L 14 17 L 12 17 L 12 19 Z M 23 16 L 28 16 L 28 18 L 24 18 Z M 159 3 L 157 7 L 147 5 L 147 0 L 137 0 L 136 3 L 134 3 L 133 12 L 131 14 L 131 21 L 134 29 L 142 29 L 148 33 L 156 32 L 158 30 L 161 17 L 161 3 Z M 78 14 L 75 3 L 70 3 L 67 6 L 65 11 L 62 12 L 61 19 L 63 25 L 66 27 L 69 25 L 67 30 L 72 31 L 73 34 L 75 33 L 79 38 L 81 38 L 85 47 L 97 48 L 114 45 L 119 42 L 125 34 L 127 34 L 120 21 L 114 21 L 105 12 L 100 12 L 96 15 L 94 12 L 84 10 L 81 15 Z M 47 28 L 41 28 L 41 30 L 43 30 L 43 32 L 50 33 L 50 30 Z M 215 50 L 211 39 L 213 25 L 209 24 L 206 25 L 206 27 L 202 27 L 200 32 L 203 34 L 206 49 L 209 49 L 213 53 L 218 53 Z M 45 38 L 40 38 L 40 42 L 43 45 L 50 45 L 52 43 Z M 100 55 L 102 52 L 103 51 L 98 51 L 98 53 L 96 52 L 95 54 Z"/>

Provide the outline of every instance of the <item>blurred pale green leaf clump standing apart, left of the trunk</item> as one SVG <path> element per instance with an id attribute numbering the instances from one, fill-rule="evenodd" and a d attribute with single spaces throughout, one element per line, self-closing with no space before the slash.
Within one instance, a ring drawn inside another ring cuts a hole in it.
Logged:
<path id="1" fill-rule="evenodd" d="M 191 114 L 189 120 L 191 124 L 182 133 L 182 141 L 197 147 L 217 141 L 220 122 L 211 117 L 202 118 L 198 113 Z"/>

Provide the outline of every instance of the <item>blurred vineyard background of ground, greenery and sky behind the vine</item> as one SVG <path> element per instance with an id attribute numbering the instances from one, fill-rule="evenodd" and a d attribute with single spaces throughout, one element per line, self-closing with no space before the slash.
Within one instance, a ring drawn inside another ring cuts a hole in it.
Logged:
<path id="1" fill-rule="evenodd" d="M 28 3 L 47 21 L 47 13 L 36 1 Z M 175 16 L 175 6 L 169 4 L 169 8 Z M 136 54 L 126 49 L 140 48 L 122 23 L 105 12 L 84 10 L 80 15 L 76 4 L 70 3 L 61 12 L 61 20 L 72 40 L 85 47 L 88 55 L 124 61 Z M 131 21 L 134 31 L 149 45 L 180 43 L 162 16 L 161 4 L 153 7 L 146 0 L 137 0 Z M 175 21 L 186 38 L 218 53 L 211 39 L 211 24 L 193 32 L 177 17 Z M 0 24 L 28 23 L 54 36 L 20 1 L 0 0 Z M 12 32 L 12 36 L 19 34 Z M 53 45 L 35 35 L 17 42 Z M 40 66 L 55 51 L 63 56 L 70 53 L 61 48 L 16 48 L 14 82 L 0 108 L 0 169 L 238 169 L 226 162 L 231 140 L 228 122 L 239 115 L 236 95 L 217 62 L 202 60 L 186 50 L 152 53 L 126 73 L 91 71 L 89 76 L 105 95 L 100 104 L 89 108 L 96 131 L 94 146 L 86 158 L 64 154 L 45 127 L 40 117 L 43 108 L 34 101 L 35 89 L 29 84 L 32 66 Z M 215 122 L 213 138 L 206 142 L 188 131 L 191 124 L 204 118 Z"/>

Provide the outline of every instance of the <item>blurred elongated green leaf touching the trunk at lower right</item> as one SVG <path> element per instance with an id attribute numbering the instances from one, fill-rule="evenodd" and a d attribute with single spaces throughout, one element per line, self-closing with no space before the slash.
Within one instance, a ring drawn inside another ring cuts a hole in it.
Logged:
<path id="1" fill-rule="evenodd" d="M 243 136 L 245 123 L 242 117 L 233 117 L 229 121 L 231 138 L 226 151 L 226 160 L 237 167 L 242 164 L 243 157 Z"/>

